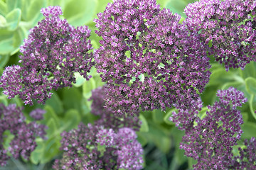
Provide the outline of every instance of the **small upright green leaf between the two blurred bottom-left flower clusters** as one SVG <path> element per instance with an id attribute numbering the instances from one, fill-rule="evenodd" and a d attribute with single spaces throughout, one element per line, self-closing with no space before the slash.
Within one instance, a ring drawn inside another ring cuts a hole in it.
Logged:
<path id="1" fill-rule="evenodd" d="M 36 139 L 36 149 L 31 153 L 30 160 L 33 164 L 38 164 L 41 162 L 43 156 L 43 151 L 45 148 L 44 141 L 42 139 Z"/>

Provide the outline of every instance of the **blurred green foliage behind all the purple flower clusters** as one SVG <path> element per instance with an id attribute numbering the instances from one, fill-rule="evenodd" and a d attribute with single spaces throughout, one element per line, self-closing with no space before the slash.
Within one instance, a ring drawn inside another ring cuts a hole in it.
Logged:
<path id="1" fill-rule="evenodd" d="M 169 8 L 174 13 L 179 13 L 183 18 L 183 8 L 195 0 L 157 0 L 162 8 Z M 41 21 L 43 15 L 41 8 L 46 6 L 61 6 L 63 18 L 68 20 L 73 26 L 86 25 L 92 30 L 90 40 L 94 48 L 100 46 L 99 40 L 94 30 L 94 18 L 97 13 L 104 11 L 110 0 L 0 0 L 0 74 L 4 67 L 11 64 L 18 64 L 19 47 L 23 40 L 28 37 L 29 30 Z M 209 56 L 210 57 L 210 56 Z M 206 86 L 206 91 L 201 95 L 204 106 L 213 104 L 215 94 L 218 89 L 228 89 L 234 86 L 245 93 L 248 102 L 242 106 L 242 116 L 244 124 L 242 130 L 242 140 L 252 136 L 256 137 L 256 63 L 247 64 L 244 70 L 225 68 L 211 59 L 212 72 L 210 82 Z M 0 102 L 8 105 L 16 103 L 24 108 L 27 121 L 32 119 L 28 113 L 34 108 L 46 110 L 43 123 L 48 126 L 48 140 L 37 140 L 38 147 L 31 154 L 28 162 L 22 158 L 20 160 L 11 159 L 9 165 L 1 167 L 4 169 L 50 169 L 53 160 L 61 157 L 60 133 L 63 130 L 76 128 L 83 123 L 93 123 L 97 116 L 90 113 L 92 89 L 102 86 L 99 74 L 95 69 L 90 72 L 92 79 L 85 81 L 79 74 L 76 74 L 77 83 L 73 88 L 60 89 L 54 91 L 46 105 L 36 104 L 34 106 L 23 106 L 19 98 L 7 99 L 1 93 Z M 1 90 L 0 90 L 1 92 Z M 206 107 L 201 114 L 206 113 Z M 138 140 L 144 147 L 144 169 L 159 170 L 181 170 L 191 169 L 193 160 L 184 156 L 183 150 L 179 149 L 179 142 L 183 132 L 175 128 L 169 121 L 174 108 L 168 108 L 165 112 L 160 110 L 140 113 L 142 128 L 137 132 Z M 9 135 L 11 138 L 11 135 Z M 8 147 L 9 138 L 5 140 L 5 147 Z M 241 145 L 241 142 L 240 144 Z M 234 152 L 236 152 L 235 147 Z"/>

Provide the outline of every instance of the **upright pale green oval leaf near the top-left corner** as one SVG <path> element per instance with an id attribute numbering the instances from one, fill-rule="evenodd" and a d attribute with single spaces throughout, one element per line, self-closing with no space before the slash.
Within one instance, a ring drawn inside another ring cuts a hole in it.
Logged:
<path id="1" fill-rule="evenodd" d="M 21 21 L 21 9 L 15 8 L 13 11 L 6 15 L 6 21 L 8 24 L 8 30 L 16 30 L 18 23 Z"/>

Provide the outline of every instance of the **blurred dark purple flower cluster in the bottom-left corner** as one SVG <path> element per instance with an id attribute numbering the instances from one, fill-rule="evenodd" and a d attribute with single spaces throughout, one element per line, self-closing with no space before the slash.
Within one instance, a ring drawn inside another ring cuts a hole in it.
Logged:
<path id="1" fill-rule="evenodd" d="M 10 147 L 4 149 L 4 132 L 9 130 L 14 135 L 10 142 Z M 22 109 L 16 107 L 15 104 L 4 106 L 0 104 L 0 166 L 6 165 L 9 159 L 7 153 L 11 153 L 12 157 L 18 159 L 28 159 L 31 152 L 36 148 L 36 137 L 45 138 L 46 126 L 39 125 L 35 122 L 26 124 Z"/>

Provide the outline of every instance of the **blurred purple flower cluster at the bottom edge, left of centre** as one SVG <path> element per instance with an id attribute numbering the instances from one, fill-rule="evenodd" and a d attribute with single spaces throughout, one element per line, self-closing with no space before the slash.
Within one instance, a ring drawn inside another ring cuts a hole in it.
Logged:
<path id="1" fill-rule="evenodd" d="M 63 158 L 53 169 L 142 169 L 143 149 L 130 128 L 118 132 L 97 125 L 78 125 L 62 133 Z"/>

